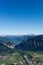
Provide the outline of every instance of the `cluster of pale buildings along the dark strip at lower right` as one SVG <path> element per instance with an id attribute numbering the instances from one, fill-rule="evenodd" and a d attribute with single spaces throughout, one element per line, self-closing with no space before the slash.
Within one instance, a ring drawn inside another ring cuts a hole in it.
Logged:
<path id="1" fill-rule="evenodd" d="M 25 65 L 43 65 L 43 62 L 37 62 L 35 60 L 33 61 L 32 59 L 29 59 L 26 54 L 24 55 L 23 61 L 13 63 L 11 65 L 23 65 L 24 63 L 26 63 Z"/>

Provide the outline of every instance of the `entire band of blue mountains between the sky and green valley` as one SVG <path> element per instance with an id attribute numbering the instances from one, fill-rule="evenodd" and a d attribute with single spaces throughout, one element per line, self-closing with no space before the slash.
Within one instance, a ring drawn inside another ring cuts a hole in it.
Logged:
<path id="1" fill-rule="evenodd" d="M 43 35 L 0 36 L 0 51 L 43 51 Z"/>

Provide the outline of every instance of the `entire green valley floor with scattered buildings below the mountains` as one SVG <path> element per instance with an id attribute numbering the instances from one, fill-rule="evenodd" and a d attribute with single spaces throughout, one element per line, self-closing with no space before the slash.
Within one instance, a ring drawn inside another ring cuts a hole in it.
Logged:
<path id="1" fill-rule="evenodd" d="M 43 65 L 43 52 L 16 51 L 0 53 L 0 65 Z"/>

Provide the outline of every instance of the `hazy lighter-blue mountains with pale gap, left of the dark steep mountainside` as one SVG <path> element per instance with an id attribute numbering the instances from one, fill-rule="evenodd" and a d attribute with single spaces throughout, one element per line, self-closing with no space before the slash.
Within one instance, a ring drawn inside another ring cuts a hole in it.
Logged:
<path id="1" fill-rule="evenodd" d="M 26 40 L 27 36 L 0 36 L 0 51 L 12 52 L 15 45 L 18 45 L 22 40 Z"/>

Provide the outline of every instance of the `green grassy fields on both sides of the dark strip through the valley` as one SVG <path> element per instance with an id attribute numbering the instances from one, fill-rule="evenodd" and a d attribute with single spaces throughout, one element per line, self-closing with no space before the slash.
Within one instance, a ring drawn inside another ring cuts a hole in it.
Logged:
<path id="1" fill-rule="evenodd" d="M 28 56 L 32 56 L 33 60 L 36 61 L 43 61 L 43 52 L 41 51 L 24 51 L 23 53 L 27 54 Z M 19 62 L 23 60 L 23 57 L 18 53 L 1 53 L 0 55 L 8 57 L 6 60 L 0 59 L 0 65 L 10 65 L 11 63 Z M 26 65 L 24 63 L 23 65 Z"/>

